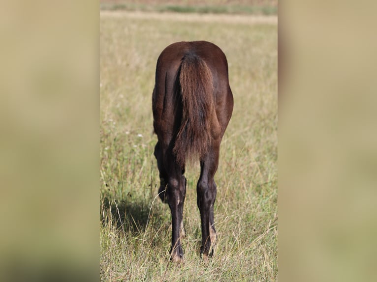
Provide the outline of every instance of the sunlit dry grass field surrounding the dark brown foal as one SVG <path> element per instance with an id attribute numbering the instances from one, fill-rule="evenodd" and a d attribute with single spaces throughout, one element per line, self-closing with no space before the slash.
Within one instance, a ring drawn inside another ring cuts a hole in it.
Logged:
<path id="1" fill-rule="evenodd" d="M 276 21 L 151 15 L 100 15 L 100 279 L 276 281 Z M 215 255 L 199 258 L 196 164 L 186 169 L 185 261 L 177 265 L 168 261 L 170 210 L 156 198 L 151 104 L 158 55 L 190 40 L 212 41 L 227 56 L 234 110 L 215 176 Z"/>

